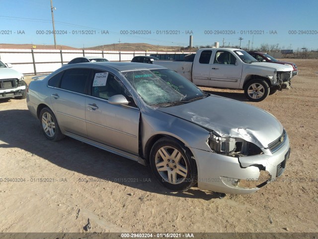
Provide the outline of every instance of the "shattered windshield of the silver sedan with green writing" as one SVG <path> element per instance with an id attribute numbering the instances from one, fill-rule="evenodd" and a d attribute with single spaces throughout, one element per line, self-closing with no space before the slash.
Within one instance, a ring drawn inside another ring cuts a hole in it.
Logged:
<path id="1" fill-rule="evenodd" d="M 208 94 L 169 69 L 122 72 L 140 97 L 150 106 L 185 104 Z"/>

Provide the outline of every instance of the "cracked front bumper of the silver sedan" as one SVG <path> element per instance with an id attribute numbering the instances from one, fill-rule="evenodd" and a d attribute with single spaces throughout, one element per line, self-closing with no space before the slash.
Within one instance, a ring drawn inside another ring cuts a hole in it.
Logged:
<path id="1" fill-rule="evenodd" d="M 227 156 L 191 148 L 198 168 L 198 187 L 213 192 L 249 194 L 275 181 L 289 158 L 289 138 L 277 151 L 253 156 Z"/>

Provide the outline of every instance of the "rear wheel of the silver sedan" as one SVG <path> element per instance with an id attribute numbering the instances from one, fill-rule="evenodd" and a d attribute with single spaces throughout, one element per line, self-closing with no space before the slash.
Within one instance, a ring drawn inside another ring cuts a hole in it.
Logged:
<path id="1" fill-rule="evenodd" d="M 41 110 L 39 120 L 41 130 L 48 139 L 52 141 L 58 141 L 65 137 L 60 130 L 55 115 L 48 107 L 45 107 Z"/>

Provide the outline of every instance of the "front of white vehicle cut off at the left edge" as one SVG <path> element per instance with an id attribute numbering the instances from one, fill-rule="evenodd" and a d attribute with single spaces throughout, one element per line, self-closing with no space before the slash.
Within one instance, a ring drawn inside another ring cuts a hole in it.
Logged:
<path id="1" fill-rule="evenodd" d="M 24 76 L 10 69 L 11 67 L 11 64 L 0 61 L 0 99 L 11 97 L 25 99 L 27 84 Z"/>

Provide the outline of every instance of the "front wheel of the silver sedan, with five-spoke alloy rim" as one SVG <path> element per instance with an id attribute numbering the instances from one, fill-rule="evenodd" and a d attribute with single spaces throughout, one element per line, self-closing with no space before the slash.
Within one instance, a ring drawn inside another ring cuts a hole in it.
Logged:
<path id="1" fill-rule="evenodd" d="M 197 166 L 189 149 L 167 137 L 153 145 L 150 166 L 159 182 L 173 191 L 186 191 L 198 181 Z"/>

